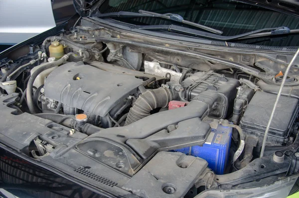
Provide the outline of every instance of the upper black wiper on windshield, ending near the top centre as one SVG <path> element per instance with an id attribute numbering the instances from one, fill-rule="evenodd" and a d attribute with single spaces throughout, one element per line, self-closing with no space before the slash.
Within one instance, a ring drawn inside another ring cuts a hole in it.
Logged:
<path id="1" fill-rule="evenodd" d="M 223 31 L 220 31 L 218 29 L 214 29 L 205 25 L 197 24 L 195 22 L 191 22 L 188 20 L 184 20 L 182 16 L 178 14 L 172 14 L 172 13 L 166 13 L 166 14 L 159 14 L 155 12 L 150 12 L 150 11 L 145 11 L 145 10 L 139 10 L 140 13 L 137 12 L 130 12 L 130 11 L 119 11 L 119 12 L 109 12 L 109 13 L 95 13 L 92 14 L 91 16 L 96 16 L 100 18 L 113 18 L 113 17 L 121 17 L 121 18 L 134 18 L 134 17 L 157 17 L 157 18 L 165 18 L 169 20 L 173 20 L 176 22 L 180 22 L 183 24 L 188 24 L 193 27 L 198 27 L 201 29 L 204 29 L 206 31 L 210 31 L 216 34 L 222 34 Z"/>

